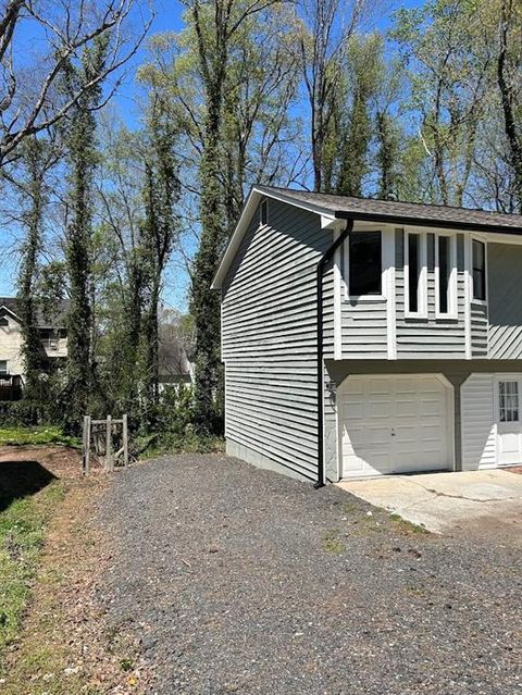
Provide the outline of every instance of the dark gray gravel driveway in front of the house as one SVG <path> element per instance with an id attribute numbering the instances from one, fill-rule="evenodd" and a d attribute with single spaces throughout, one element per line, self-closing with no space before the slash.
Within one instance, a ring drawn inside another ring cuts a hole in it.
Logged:
<path id="1" fill-rule="evenodd" d="M 522 693 L 522 539 L 415 533 L 224 456 L 120 472 L 101 599 L 174 695 Z"/>

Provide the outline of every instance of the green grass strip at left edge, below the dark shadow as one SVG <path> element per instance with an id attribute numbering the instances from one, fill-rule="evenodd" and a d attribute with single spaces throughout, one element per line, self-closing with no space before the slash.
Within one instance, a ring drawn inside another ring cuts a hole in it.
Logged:
<path id="1" fill-rule="evenodd" d="M 38 495 L 13 500 L 0 512 L 0 672 L 5 648 L 18 635 L 30 597 L 46 523 L 65 486 L 53 481 Z"/>

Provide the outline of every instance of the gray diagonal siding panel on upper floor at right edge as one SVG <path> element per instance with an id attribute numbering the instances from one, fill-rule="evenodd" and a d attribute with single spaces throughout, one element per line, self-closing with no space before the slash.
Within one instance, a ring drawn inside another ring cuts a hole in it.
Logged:
<path id="1" fill-rule="evenodd" d="M 489 357 L 522 357 L 522 246 L 487 245 Z"/>

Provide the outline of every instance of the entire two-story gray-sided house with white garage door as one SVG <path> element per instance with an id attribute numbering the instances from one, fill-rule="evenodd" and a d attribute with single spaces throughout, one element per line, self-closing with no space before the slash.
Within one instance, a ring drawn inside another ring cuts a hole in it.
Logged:
<path id="1" fill-rule="evenodd" d="M 213 283 L 227 451 L 319 484 L 522 463 L 521 280 L 520 215 L 254 187 Z"/>

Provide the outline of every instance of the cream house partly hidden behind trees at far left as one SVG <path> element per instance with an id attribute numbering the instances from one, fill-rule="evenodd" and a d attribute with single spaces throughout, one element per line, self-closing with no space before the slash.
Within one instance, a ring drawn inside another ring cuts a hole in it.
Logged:
<path id="1" fill-rule="evenodd" d="M 41 352 L 50 371 L 67 356 L 65 311 L 66 302 L 62 302 L 52 318 L 41 310 L 37 314 Z M 18 300 L 14 297 L 0 297 L 0 400 L 15 400 L 22 395 L 23 345 Z"/>

